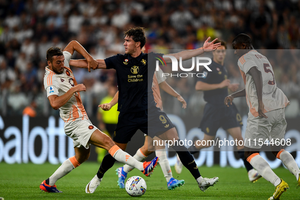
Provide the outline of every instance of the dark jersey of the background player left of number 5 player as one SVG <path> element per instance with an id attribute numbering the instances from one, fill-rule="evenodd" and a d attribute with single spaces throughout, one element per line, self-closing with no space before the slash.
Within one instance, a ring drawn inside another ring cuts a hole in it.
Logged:
<path id="1" fill-rule="evenodd" d="M 205 74 L 205 76 L 199 77 L 198 81 L 208 84 L 218 84 L 227 79 L 227 72 L 224 66 L 212 60 L 209 68 L 212 70 L 212 72 L 209 72 L 206 68 L 204 68 L 202 73 Z M 208 90 L 204 91 L 204 100 L 210 104 L 224 104 L 224 98 L 227 95 L 227 88 Z"/>

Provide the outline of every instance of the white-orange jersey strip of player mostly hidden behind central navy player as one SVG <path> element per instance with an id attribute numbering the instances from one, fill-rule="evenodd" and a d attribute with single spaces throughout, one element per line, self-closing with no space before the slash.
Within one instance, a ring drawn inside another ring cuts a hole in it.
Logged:
<path id="1" fill-rule="evenodd" d="M 162 110 L 162 101 L 160 96 L 159 84 L 165 81 L 165 77 L 162 77 L 162 70 L 159 68 L 159 71 L 154 72 L 153 82 L 152 82 L 152 91 L 154 96 L 154 101 L 156 103 L 156 107 Z"/>

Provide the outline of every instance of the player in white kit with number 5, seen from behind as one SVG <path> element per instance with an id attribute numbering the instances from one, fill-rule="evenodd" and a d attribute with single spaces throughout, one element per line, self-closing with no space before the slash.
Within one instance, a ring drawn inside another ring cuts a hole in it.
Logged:
<path id="1" fill-rule="evenodd" d="M 235 54 L 240 58 L 238 65 L 244 79 L 245 89 L 226 96 L 225 105 L 232 103 L 235 97 L 246 96 L 249 106 L 245 134 L 245 157 L 257 172 L 276 188 L 269 199 L 279 199 L 288 184 L 280 179 L 260 155 L 265 140 L 284 140 L 286 121 L 284 109 L 289 104 L 285 94 L 276 85 L 272 65 L 269 60 L 254 50 L 251 38 L 246 34 L 238 35 L 232 42 Z M 280 159 L 286 168 L 296 177 L 300 185 L 300 170 L 293 156 L 284 151 L 281 142 L 271 145 L 272 153 Z"/>

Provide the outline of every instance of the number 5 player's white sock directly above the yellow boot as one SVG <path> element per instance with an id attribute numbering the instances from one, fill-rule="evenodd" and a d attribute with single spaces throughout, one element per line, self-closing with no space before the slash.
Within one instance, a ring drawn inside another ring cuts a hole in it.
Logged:
<path id="1" fill-rule="evenodd" d="M 272 171 L 268 162 L 265 161 L 258 153 L 254 153 L 247 158 L 247 161 L 255 170 L 267 181 L 274 186 L 280 184 L 280 178 Z"/>

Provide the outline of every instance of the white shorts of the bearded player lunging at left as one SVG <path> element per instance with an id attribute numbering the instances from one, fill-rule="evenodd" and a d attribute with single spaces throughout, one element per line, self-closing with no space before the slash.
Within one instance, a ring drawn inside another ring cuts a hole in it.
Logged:
<path id="1" fill-rule="evenodd" d="M 92 133 L 98 129 L 89 119 L 71 121 L 64 124 L 65 135 L 73 139 L 74 147 L 84 146 L 89 148 L 88 143 Z"/>

